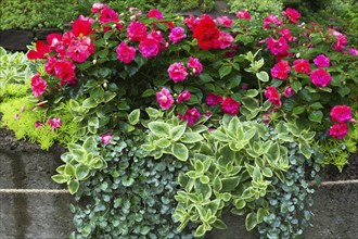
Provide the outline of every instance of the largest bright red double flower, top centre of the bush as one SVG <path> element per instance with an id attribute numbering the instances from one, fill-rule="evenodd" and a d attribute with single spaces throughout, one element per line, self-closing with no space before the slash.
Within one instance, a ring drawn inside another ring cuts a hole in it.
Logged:
<path id="1" fill-rule="evenodd" d="M 199 47 L 203 50 L 218 49 L 219 36 L 214 20 L 208 15 L 202 15 L 199 24 L 193 28 L 193 37 L 197 39 Z"/>

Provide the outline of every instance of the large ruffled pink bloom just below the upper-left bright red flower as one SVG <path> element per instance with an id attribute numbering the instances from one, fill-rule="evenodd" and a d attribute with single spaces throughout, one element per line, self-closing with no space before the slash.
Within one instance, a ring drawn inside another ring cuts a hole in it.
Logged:
<path id="1" fill-rule="evenodd" d="M 73 39 L 67 48 L 67 55 L 81 63 L 94 53 L 94 45 L 89 37 Z"/>

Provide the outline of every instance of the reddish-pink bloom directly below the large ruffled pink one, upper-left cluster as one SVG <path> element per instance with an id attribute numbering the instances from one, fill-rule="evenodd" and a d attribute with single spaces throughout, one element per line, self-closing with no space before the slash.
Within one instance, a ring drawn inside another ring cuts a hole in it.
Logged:
<path id="1" fill-rule="evenodd" d="M 61 79 L 61 85 L 76 85 L 76 65 L 72 61 L 57 61 L 54 64 L 54 75 Z"/>

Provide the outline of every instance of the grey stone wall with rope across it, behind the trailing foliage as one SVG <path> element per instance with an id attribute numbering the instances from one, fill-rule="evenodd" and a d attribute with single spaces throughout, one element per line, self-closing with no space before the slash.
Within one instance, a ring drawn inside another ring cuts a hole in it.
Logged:
<path id="1" fill-rule="evenodd" d="M 42 151 L 37 146 L 14 139 L 12 133 L 0 129 L 0 189 L 61 189 L 51 176 L 61 164 L 61 148 Z M 335 168 L 328 168 L 325 180 L 351 179 L 358 175 L 358 154 L 350 159 L 342 175 L 332 176 Z M 354 168 L 354 169 L 349 169 Z M 350 172 L 353 171 L 353 172 Z M 354 172 L 355 171 L 355 172 Z M 330 173 L 331 172 L 331 173 Z M 324 173 L 324 172 L 323 172 Z M 355 239 L 358 235 L 358 184 L 330 185 L 315 193 L 314 227 L 307 228 L 307 239 Z M 65 193 L 0 193 L 0 239 L 62 239 L 68 238 L 72 214 L 68 210 L 73 197 Z M 225 216 L 227 230 L 215 230 L 207 239 L 256 239 L 255 232 L 247 232 L 244 219 Z"/>

